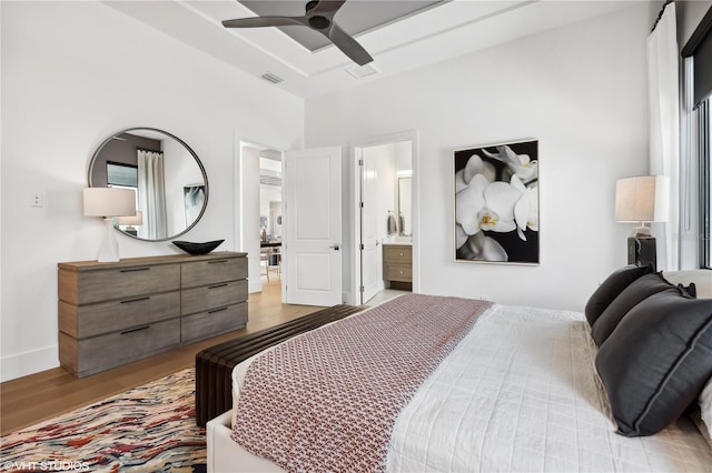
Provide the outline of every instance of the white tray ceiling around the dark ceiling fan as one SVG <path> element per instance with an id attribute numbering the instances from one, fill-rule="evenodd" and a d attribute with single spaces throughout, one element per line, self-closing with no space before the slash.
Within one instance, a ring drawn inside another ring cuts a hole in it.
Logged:
<path id="1" fill-rule="evenodd" d="M 367 3 L 377 10 L 392 1 L 399 0 Z M 250 76 L 276 74 L 284 81 L 274 87 L 312 98 L 610 13 L 640 1 L 445 1 L 355 34 L 374 58 L 374 62 L 362 68 L 334 46 L 312 52 L 277 28 L 224 28 L 222 20 L 255 16 L 236 0 L 108 0 L 105 3 Z M 290 3 L 299 6 L 296 14 L 303 14 L 306 0 Z M 346 21 L 339 20 L 342 13 L 346 14 L 339 11 L 335 17 L 339 24 Z M 377 73 L 362 79 L 352 74 L 359 76 L 370 67 Z"/>

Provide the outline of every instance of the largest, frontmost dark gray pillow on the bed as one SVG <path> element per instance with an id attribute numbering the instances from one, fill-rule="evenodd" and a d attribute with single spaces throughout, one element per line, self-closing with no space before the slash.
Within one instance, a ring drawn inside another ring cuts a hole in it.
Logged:
<path id="1" fill-rule="evenodd" d="M 623 318 L 595 360 L 625 436 L 652 435 L 676 420 L 712 375 L 712 300 L 670 288 Z"/>

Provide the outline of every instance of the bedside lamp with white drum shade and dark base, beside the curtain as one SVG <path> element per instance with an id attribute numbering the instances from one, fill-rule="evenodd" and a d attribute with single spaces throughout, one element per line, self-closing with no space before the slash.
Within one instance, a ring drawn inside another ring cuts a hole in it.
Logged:
<path id="1" fill-rule="evenodd" d="M 627 239 L 629 264 L 649 264 L 656 268 L 655 238 L 645 223 L 666 222 L 670 218 L 670 178 L 640 175 L 620 179 L 615 183 L 615 220 L 635 222 L 639 227 Z"/>

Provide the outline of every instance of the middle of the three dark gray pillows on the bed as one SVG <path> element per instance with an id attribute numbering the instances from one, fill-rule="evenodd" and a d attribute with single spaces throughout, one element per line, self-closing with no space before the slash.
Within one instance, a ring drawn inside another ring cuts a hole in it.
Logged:
<path id="1" fill-rule="evenodd" d="M 643 274 L 633 281 L 621 291 L 594 322 L 591 328 L 593 341 L 601 346 L 631 309 L 649 296 L 670 288 L 674 288 L 674 285 L 663 279 L 661 273 Z"/>

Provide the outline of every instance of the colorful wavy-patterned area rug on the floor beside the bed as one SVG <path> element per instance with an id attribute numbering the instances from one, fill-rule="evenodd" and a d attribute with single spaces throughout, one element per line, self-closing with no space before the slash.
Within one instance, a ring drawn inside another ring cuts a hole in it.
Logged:
<path id="1" fill-rule="evenodd" d="M 204 472 L 195 370 L 2 437 L 0 471 Z"/>

